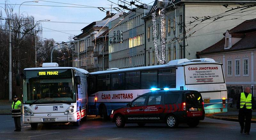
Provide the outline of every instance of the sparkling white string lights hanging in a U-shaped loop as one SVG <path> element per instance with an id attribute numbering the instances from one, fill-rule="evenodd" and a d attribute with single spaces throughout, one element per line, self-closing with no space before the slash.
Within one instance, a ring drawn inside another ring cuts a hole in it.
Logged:
<path id="1" fill-rule="evenodd" d="M 161 63 L 165 64 L 165 19 L 164 9 L 159 10 L 160 13 L 160 42 L 161 42 L 161 57 L 157 46 L 157 31 L 156 31 L 156 12 L 152 13 L 152 39 L 155 49 L 156 59 Z"/>

